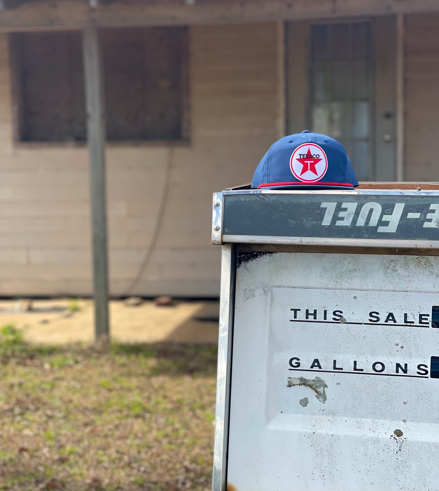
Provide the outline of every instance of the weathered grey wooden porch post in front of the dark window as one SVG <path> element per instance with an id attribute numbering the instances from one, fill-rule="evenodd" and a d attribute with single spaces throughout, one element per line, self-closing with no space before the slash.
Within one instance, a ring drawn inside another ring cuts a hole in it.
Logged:
<path id="1" fill-rule="evenodd" d="M 93 281 L 95 339 L 109 336 L 107 199 L 105 181 L 105 104 L 98 29 L 82 31 L 87 140 L 90 154 L 91 224 L 93 237 Z"/>

